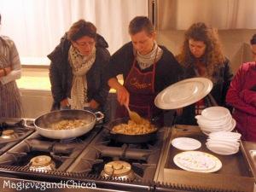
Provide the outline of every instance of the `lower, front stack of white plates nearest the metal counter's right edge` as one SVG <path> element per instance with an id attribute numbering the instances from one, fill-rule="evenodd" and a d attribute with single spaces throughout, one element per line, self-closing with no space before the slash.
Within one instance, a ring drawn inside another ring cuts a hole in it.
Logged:
<path id="1" fill-rule="evenodd" d="M 237 132 L 212 132 L 207 139 L 207 148 L 216 154 L 236 154 L 239 151 L 240 137 L 241 134 Z"/>

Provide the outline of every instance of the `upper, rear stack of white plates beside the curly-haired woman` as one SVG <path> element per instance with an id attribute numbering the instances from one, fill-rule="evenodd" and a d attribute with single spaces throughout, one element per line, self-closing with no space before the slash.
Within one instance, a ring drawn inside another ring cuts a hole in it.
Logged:
<path id="1" fill-rule="evenodd" d="M 223 107 L 205 108 L 195 119 L 201 131 L 207 135 L 216 131 L 232 131 L 236 126 L 236 120 L 232 119 L 229 109 Z"/>

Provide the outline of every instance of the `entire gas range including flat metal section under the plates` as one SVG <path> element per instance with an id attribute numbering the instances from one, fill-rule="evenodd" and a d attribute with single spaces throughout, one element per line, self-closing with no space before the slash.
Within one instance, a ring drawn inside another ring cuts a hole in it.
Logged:
<path id="1" fill-rule="evenodd" d="M 17 127 L 18 130 L 22 128 Z M 9 128 L 4 128 L 7 131 L 4 134 L 8 137 L 14 134 Z M 193 134 L 201 136 L 201 132 L 197 130 L 198 127 L 191 127 Z M 223 168 L 218 174 L 185 172 L 172 165 L 174 152 L 179 151 L 172 148 L 171 137 L 175 134 L 190 136 L 189 127 L 184 125 L 179 129 L 162 127 L 153 141 L 137 144 L 116 142 L 109 136 L 108 127 L 102 125 L 97 125 L 84 136 L 71 140 L 49 139 L 33 131 L 15 144 L 10 142 L 13 146 L 0 155 L 0 186 L 4 183 L 13 186 L 46 186 L 46 183 L 51 183 L 49 186 L 61 185 L 61 191 L 73 191 L 76 186 L 89 183 L 88 188 L 77 187 L 75 190 L 221 192 L 234 191 L 228 189 L 238 187 L 242 190 L 237 191 L 251 191 L 251 183 L 254 183 L 254 178 L 248 173 L 241 174 L 241 171 L 247 171 L 244 163 L 246 161 L 241 154 L 219 157 Z M 205 147 L 202 149 L 207 150 Z M 233 172 L 232 175 L 227 174 L 229 172 Z M 237 174 L 233 177 L 234 172 L 239 173 L 239 177 Z M 242 186 L 237 179 L 242 179 Z M 223 181 L 232 182 L 223 185 Z M 205 188 L 209 183 L 212 187 Z M 247 189 L 244 188 L 244 183 Z M 217 188 L 220 184 L 221 188 Z M 223 187 L 231 185 L 229 188 Z M 90 186 L 96 188 L 91 189 Z M 55 191 L 54 188 L 45 191 L 53 190 Z"/>

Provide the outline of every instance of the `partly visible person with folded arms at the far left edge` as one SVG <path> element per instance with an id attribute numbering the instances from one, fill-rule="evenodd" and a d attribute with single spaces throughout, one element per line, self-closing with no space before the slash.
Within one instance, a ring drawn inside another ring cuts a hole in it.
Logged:
<path id="1" fill-rule="evenodd" d="M 20 92 L 15 82 L 20 75 L 20 57 L 15 43 L 6 36 L 0 36 L 0 119 L 22 116 Z"/>

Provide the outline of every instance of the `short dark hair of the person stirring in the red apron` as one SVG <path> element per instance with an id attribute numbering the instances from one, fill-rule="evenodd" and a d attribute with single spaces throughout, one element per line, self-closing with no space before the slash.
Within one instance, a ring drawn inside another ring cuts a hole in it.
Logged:
<path id="1" fill-rule="evenodd" d="M 130 35 L 135 35 L 137 32 L 142 32 L 143 30 L 148 34 L 152 34 L 154 32 L 154 25 L 148 17 L 137 16 L 131 20 L 129 24 Z"/>

